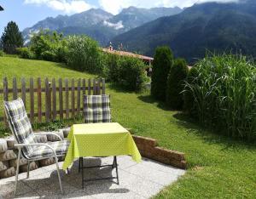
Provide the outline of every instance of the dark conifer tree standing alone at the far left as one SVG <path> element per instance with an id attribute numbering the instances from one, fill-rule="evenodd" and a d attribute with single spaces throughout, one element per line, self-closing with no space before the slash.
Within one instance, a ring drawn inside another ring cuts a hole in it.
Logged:
<path id="1" fill-rule="evenodd" d="M 3 51 L 7 54 L 15 54 L 17 52 L 16 48 L 23 46 L 23 37 L 14 21 L 10 21 L 4 28 L 1 44 Z"/>

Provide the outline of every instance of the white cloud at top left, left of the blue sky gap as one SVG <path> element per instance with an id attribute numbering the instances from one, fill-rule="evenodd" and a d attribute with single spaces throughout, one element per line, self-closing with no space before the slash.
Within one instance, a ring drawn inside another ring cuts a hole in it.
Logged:
<path id="1" fill-rule="evenodd" d="M 83 0 L 25 0 L 24 3 L 47 5 L 50 9 L 61 10 L 67 14 L 81 13 L 93 8 L 92 5 Z"/>

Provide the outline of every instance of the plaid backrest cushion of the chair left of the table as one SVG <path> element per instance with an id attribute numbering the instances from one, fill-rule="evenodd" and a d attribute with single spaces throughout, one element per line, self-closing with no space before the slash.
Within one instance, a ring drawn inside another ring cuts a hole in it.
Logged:
<path id="1" fill-rule="evenodd" d="M 38 143 L 35 135 L 33 134 L 32 126 L 29 118 L 26 115 L 25 105 L 22 99 L 14 101 L 5 101 L 5 109 L 9 119 L 10 128 L 15 134 L 15 139 L 19 144 L 34 144 Z M 26 146 L 22 148 L 24 156 L 32 153 L 34 146 Z"/>

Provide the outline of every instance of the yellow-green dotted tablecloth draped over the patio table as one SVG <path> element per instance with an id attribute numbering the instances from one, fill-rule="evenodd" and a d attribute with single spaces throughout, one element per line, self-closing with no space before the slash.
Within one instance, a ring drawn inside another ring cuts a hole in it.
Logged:
<path id="1" fill-rule="evenodd" d="M 117 122 L 74 124 L 67 139 L 70 145 L 64 170 L 80 156 L 131 155 L 136 162 L 142 159 L 131 134 Z"/>

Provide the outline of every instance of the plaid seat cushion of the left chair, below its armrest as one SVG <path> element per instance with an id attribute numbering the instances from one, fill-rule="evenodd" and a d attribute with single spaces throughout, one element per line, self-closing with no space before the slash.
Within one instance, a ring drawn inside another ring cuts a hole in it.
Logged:
<path id="1" fill-rule="evenodd" d="M 63 140 L 63 141 L 57 141 L 57 142 L 48 142 L 47 145 L 51 146 L 55 152 L 56 155 L 65 155 L 68 150 L 69 141 Z M 43 145 L 43 146 L 36 146 L 34 148 L 34 151 L 32 151 L 31 154 L 29 154 L 28 158 L 35 158 L 35 157 L 46 157 L 46 156 L 53 156 L 53 152 L 49 147 Z"/>

